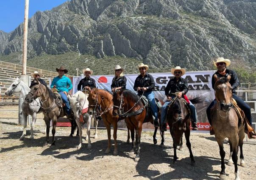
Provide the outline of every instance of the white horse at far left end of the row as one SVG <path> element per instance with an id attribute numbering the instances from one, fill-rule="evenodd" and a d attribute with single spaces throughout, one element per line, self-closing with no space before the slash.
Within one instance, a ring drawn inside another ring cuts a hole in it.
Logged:
<path id="1" fill-rule="evenodd" d="M 40 108 L 40 99 L 36 98 L 35 101 L 32 103 L 27 103 L 25 101 L 25 96 L 30 91 L 30 88 L 19 78 L 15 79 L 14 82 L 11 84 L 11 86 L 6 90 L 5 94 L 11 96 L 12 94 L 18 94 L 20 93 L 23 98 L 22 103 L 22 116 L 24 119 L 24 125 L 23 125 L 23 133 L 22 136 L 20 136 L 19 140 L 24 139 L 26 135 L 26 128 L 27 128 L 27 119 L 28 115 L 32 116 L 32 123 L 31 123 L 31 135 L 30 138 L 34 139 L 33 136 L 33 127 L 36 123 L 36 114 L 41 113 L 42 109 Z"/>

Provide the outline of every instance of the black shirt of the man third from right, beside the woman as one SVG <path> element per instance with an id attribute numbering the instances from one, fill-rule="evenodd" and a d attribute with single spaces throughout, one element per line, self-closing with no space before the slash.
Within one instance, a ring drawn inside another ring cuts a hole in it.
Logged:
<path id="1" fill-rule="evenodd" d="M 140 74 L 135 79 L 134 90 L 136 91 L 138 87 L 147 87 L 147 90 L 145 92 L 151 92 L 155 88 L 155 81 L 153 76 L 146 72 L 145 76 L 142 78 L 142 75 Z M 139 95 L 142 95 L 142 93 L 143 91 L 138 91 Z"/>

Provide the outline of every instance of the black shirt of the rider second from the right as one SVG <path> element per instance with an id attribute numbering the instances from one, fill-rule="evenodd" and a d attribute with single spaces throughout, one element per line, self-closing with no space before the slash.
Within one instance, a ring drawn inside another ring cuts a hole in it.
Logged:
<path id="1" fill-rule="evenodd" d="M 188 87 L 188 82 L 186 79 L 180 77 L 178 81 L 176 78 L 171 79 L 167 86 L 164 89 L 165 95 L 170 95 L 170 93 L 175 93 L 175 92 L 182 92 L 184 91 L 186 94 L 189 90 Z"/>

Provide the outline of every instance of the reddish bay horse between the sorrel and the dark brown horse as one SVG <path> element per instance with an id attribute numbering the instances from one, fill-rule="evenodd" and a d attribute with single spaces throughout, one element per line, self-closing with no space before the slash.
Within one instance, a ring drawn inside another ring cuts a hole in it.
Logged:
<path id="1" fill-rule="evenodd" d="M 114 110 L 113 115 L 118 117 L 119 115 L 127 115 L 125 117 L 125 122 L 127 124 L 128 130 L 131 131 L 131 139 L 132 139 L 132 149 L 130 151 L 130 155 L 134 153 L 135 150 L 135 141 L 134 141 L 134 130 L 136 131 L 136 143 L 137 143 L 137 153 L 134 161 L 138 162 L 140 157 L 140 138 L 142 134 L 142 124 L 143 123 L 152 123 L 153 117 L 150 109 L 148 109 L 149 115 L 146 118 L 146 107 L 142 103 L 141 97 L 136 95 L 130 90 L 121 89 L 117 90 L 113 93 L 113 102 L 114 102 Z M 125 112 L 125 113 L 122 113 Z M 159 117 L 160 117 L 160 109 L 159 109 Z M 145 119 L 146 118 L 146 119 Z M 153 134 L 153 142 L 157 143 L 156 140 L 156 132 L 158 127 L 155 128 Z"/>

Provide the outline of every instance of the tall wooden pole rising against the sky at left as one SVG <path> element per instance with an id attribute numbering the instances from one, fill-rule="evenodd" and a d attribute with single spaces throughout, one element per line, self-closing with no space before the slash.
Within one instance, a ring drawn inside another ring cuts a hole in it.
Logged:
<path id="1" fill-rule="evenodd" d="M 24 15 L 24 38 L 23 38 L 23 68 L 22 74 L 26 75 L 27 73 L 27 44 L 28 44 L 28 2 L 25 0 L 25 15 Z"/>

